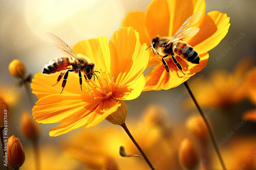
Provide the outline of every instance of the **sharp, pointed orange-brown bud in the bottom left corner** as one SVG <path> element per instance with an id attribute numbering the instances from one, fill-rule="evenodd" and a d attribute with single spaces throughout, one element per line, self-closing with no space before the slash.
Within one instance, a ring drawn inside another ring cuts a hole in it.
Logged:
<path id="1" fill-rule="evenodd" d="M 19 169 L 25 162 L 25 152 L 19 141 L 14 135 L 9 137 L 7 143 L 8 165 L 14 169 Z"/>

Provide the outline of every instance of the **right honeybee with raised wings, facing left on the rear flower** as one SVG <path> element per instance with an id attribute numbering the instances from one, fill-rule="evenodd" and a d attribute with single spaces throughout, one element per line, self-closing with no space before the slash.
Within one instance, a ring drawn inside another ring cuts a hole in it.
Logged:
<path id="1" fill-rule="evenodd" d="M 195 35 L 200 30 L 198 27 L 188 28 L 190 25 L 195 24 L 201 17 L 202 11 L 197 11 L 193 15 L 191 15 L 178 29 L 178 31 L 172 36 L 159 36 L 157 35 L 155 38 L 151 40 L 151 46 L 153 53 L 157 53 L 159 56 L 162 55 L 162 62 L 165 66 L 165 70 L 168 73 L 168 79 L 170 77 L 169 68 L 166 63 L 166 59 L 172 58 L 173 62 L 176 64 L 178 69 L 185 75 L 182 71 L 181 65 L 177 62 L 176 56 L 183 57 L 185 60 L 199 64 L 200 57 L 187 43 L 182 41 L 184 38 Z M 188 29 L 187 29 L 188 28 Z M 149 48 L 148 47 L 148 48 Z M 155 51 L 155 52 L 154 52 Z M 157 57 L 158 57 L 157 56 Z"/>

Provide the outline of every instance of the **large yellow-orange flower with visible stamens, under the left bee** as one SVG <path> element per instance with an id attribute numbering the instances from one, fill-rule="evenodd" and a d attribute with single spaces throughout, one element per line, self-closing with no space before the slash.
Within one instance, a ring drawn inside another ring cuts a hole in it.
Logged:
<path id="1" fill-rule="evenodd" d="M 131 27 L 116 31 L 109 43 L 105 36 L 78 42 L 73 51 L 95 62 L 96 70 L 101 72 L 99 80 L 83 83 L 81 91 L 79 76 L 70 75 L 65 91 L 59 94 L 61 87 L 51 86 L 56 76 L 37 73 L 31 84 L 32 93 L 39 99 L 32 109 L 34 118 L 38 123 L 62 123 L 50 130 L 50 136 L 97 125 L 125 104 L 120 100 L 132 100 L 141 94 L 145 86 L 142 72 L 150 55 L 146 46 L 140 44 L 139 33 Z"/>

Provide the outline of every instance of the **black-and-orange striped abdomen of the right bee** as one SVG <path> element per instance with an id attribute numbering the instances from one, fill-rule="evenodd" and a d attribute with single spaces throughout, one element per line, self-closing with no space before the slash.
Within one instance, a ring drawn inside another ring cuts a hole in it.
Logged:
<path id="1" fill-rule="evenodd" d="M 191 63 L 199 64 L 200 57 L 196 50 L 190 45 L 186 44 L 182 48 L 182 54 L 184 54 L 185 59 Z"/>

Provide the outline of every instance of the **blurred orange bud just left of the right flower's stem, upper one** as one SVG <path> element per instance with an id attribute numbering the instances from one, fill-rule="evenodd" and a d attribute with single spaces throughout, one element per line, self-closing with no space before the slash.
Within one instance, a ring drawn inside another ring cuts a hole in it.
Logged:
<path id="1" fill-rule="evenodd" d="M 208 130 L 200 115 L 190 116 L 186 122 L 187 135 L 194 135 L 200 140 L 205 140 L 208 137 Z"/>

